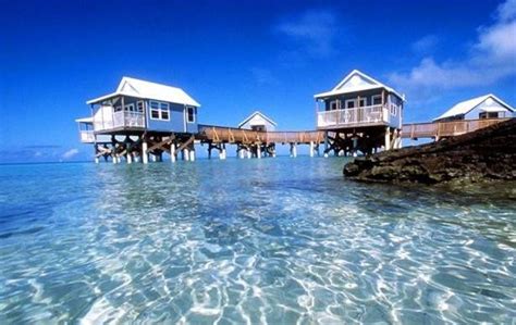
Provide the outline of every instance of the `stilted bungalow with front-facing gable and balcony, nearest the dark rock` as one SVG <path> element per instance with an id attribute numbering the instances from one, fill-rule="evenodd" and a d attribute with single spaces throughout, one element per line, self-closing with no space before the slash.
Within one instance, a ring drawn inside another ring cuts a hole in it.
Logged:
<path id="1" fill-rule="evenodd" d="M 401 148 L 405 96 L 354 70 L 333 89 L 314 96 L 325 152 L 364 153 Z"/>

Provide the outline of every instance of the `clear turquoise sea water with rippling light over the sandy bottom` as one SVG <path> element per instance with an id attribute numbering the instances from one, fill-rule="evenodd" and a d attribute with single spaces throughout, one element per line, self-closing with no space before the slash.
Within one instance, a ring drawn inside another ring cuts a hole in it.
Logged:
<path id="1" fill-rule="evenodd" d="M 0 166 L 0 323 L 514 324 L 514 184 L 343 162 Z"/>

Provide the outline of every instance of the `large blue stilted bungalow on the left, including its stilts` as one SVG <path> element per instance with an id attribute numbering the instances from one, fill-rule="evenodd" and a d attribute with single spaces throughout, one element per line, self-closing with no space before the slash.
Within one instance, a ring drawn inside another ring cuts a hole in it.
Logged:
<path id="1" fill-rule="evenodd" d="M 148 153 L 161 160 L 163 151 L 175 157 L 175 150 L 195 159 L 200 104 L 183 89 L 123 77 L 114 92 L 86 103 L 91 116 L 76 122 L 81 140 L 95 143 L 96 161 L 103 155 L 116 162 L 124 155 L 127 162 L 142 157 L 145 163 Z"/>

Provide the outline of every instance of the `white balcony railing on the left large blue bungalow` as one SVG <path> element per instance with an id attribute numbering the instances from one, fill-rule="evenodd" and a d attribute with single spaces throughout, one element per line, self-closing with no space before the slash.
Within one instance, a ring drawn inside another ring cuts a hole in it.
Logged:
<path id="1" fill-rule="evenodd" d="M 94 116 L 94 128 L 96 132 L 121 127 L 145 127 L 145 114 L 140 112 L 119 111 L 112 108 L 101 108 L 102 111 Z"/>

